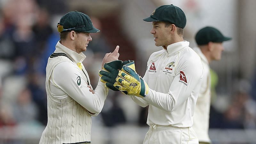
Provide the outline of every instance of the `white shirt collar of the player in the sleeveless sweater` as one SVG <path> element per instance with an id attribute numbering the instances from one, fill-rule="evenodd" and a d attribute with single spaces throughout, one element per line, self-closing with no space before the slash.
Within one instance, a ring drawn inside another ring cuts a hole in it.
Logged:
<path id="1" fill-rule="evenodd" d="M 69 48 L 67 48 L 66 46 L 60 44 L 60 41 L 58 41 L 58 43 L 56 44 L 56 50 L 64 51 L 76 63 L 83 62 L 84 59 L 86 58 L 86 56 L 84 55 L 83 52 L 77 53 L 75 51 L 72 51 Z"/>

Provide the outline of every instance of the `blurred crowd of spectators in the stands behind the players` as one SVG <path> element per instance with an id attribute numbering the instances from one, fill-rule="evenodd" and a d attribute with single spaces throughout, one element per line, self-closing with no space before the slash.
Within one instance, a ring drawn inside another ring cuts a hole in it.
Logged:
<path id="1" fill-rule="evenodd" d="M 184 39 L 213 26 L 233 39 L 222 60 L 211 64 L 213 143 L 256 143 L 256 1 L 254 0 L 0 0 L 0 144 L 38 143 L 47 124 L 45 68 L 59 40 L 56 25 L 69 11 L 90 16 L 100 33 L 92 34 L 84 60 L 93 88 L 107 52 L 120 46 L 120 60 L 135 60 L 144 75 L 154 45 L 151 23 L 142 19 L 163 4 L 187 15 Z M 142 143 L 148 130 L 147 108 L 110 91 L 92 119 L 92 142 Z"/>

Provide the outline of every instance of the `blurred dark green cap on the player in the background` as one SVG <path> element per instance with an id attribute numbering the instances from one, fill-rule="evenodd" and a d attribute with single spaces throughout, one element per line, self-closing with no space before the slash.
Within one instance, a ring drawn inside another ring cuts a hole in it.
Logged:
<path id="1" fill-rule="evenodd" d="M 213 27 L 204 27 L 196 33 L 196 44 L 204 45 L 209 42 L 224 42 L 231 40 L 231 37 L 223 36 L 222 33 Z"/>

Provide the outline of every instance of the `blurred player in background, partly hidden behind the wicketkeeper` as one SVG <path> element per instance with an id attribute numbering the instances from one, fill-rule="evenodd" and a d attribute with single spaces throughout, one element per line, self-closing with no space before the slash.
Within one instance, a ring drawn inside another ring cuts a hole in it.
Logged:
<path id="1" fill-rule="evenodd" d="M 201 57 L 204 75 L 196 102 L 193 128 L 199 139 L 199 144 L 210 144 L 211 140 L 208 135 L 211 105 L 211 76 L 209 64 L 212 60 L 221 59 L 221 53 L 224 50 L 222 42 L 231 40 L 231 38 L 223 36 L 216 28 L 204 27 L 196 33 L 195 39 L 198 47 L 195 47 L 194 50 Z"/>

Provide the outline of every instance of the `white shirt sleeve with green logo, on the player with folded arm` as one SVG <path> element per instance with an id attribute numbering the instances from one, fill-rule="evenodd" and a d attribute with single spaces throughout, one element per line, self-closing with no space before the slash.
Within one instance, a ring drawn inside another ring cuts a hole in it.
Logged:
<path id="1" fill-rule="evenodd" d="M 102 82 L 98 82 L 93 94 L 87 87 L 87 80 L 84 79 L 80 69 L 74 64 L 64 61 L 56 65 L 53 71 L 54 83 L 60 89 L 85 109 L 95 113 L 94 115 L 101 112 L 108 94 L 108 89 L 104 87 Z"/>

